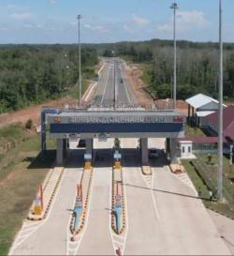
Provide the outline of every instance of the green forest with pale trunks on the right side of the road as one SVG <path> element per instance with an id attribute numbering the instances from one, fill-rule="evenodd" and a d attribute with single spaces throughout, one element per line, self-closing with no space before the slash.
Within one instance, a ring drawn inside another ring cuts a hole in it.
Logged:
<path id="1" fill-rule="evenodd" d="M 170 98 L 173 76 L 173 41 L 153 39 L 142 42 L 103 44 L 97 51 L 104 56 L 118 55 L 145 64 L 143 79 L 155 98 Z M 113 51 L 113 52 L 112 52 Z M 219 45 L 178 41 L 178 98 L 196 93 L 218 95 Z M 234 99 L 234 44 L 224 45 L 224 98 Z"/>

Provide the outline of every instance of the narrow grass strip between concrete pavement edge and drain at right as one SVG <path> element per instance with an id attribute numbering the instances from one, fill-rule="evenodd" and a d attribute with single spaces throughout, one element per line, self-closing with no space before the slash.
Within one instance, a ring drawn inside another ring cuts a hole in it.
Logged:
<path id="1" fill-rule="evenodd" d="M 233 203 L 219 203 L 216 201 L 209 201 L 209 188 L 207 184 L 204 182 L 204 179 L 202 179 L 197 171 L 195 170 L 194 166 L 191 164 L 190 160 L 182 160 L 183 166 L 186 170 L 186 173 L 188 173 L 190 179 L 192 180 L 195 188 L 197 188 L 197 191 L 201 191 L 201 198 L 204 205 L 216 212 L 219 212 L 222 215 L 227 216 L 227 218 L 234 219 L 234 207 Z M 233 186 L 233 185 L 232 185 Z M 232 187 L 233 188 L 233 187 Z"/>

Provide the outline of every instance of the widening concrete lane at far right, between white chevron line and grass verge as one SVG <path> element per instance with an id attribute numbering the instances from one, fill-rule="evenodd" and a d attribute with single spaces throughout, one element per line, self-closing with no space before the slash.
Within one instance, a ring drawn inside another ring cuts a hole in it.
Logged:
<path id="1" fill-rule="evenodd" d="M 161 162 L 160 162 L 161 161 Z M 154 199 L 164 237 L 164 254 L 228 255 L 204 205 L 194 191 L 164 166 L 154 168 Z"/>

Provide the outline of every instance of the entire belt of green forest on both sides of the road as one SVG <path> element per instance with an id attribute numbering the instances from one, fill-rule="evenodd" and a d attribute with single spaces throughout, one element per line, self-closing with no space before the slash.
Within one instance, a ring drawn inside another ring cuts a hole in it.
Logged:
<path id="1" fill-rule="evenodd" d="M 63 97 L 79 79 L 77 45 L 1 45 L 0 113 L 15 111 L 47 99 Z M 178 98 L 196 93 L 218 95 L 219 45 L 178 41 Z M 173 41 L 83 44 L 82 78 L 95 76 L 98 55 L 120 56 L 144 68 L 142 78 L 154 98 L 170 98 Z M 224 98 L 234 99 L 234 44 L 224 45 Z"/>

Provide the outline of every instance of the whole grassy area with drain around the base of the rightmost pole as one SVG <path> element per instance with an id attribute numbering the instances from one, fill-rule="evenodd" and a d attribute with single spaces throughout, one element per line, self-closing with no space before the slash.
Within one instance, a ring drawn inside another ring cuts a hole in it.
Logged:
<path id="1" fill-rule="evenodd" d="M 209 209 L 217 211 L 228 218 L 234 218 L 234 184 L 231 182 L 234 175 L 234 166 L 229 168 L 228 159 L 224 158 L 224 196 L 225 203 L 219 203 L 216 200 L 210 201 L 209 191 L 212 190 L 215 196 L 216 192 L 216 166 L 217 157 L 211 155 L 209 162 L 208 155 L 199 155 L 196 160 L 182 160 L 183 166 L 193 181 L 197 191 L 200 190 L 200 197 L 203 203 Z"/>

